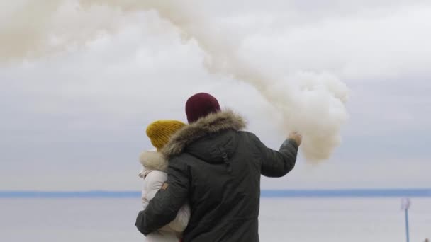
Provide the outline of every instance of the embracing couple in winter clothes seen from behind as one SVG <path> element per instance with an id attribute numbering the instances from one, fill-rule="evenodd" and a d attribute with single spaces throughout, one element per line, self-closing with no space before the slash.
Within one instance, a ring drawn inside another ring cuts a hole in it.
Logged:
<path id="1" fill-rule="evenodd" d="M 289 173 L 301 135 L 269 149 L 208 93 L 191 96 L 186 115 L 188 125 L 159 120 L 147 127 L 157 151 L 140 156 L 144 210 L 135 225 L 147 241 L 259 241 L 260 176 Z"/>

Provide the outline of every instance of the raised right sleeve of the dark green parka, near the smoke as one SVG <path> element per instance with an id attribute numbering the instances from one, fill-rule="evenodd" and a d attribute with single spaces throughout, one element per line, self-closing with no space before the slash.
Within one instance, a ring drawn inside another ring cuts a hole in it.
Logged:
<path id="1" fill-rule="evenodd" d="M 261 158 L 261 173 L 271 178 L 279 178 L 291 171 L 296 163 L 298 144 L 293 139 L 286 139 L 279 151 L 265 146 L 254 134 L 254 142 Z"/>

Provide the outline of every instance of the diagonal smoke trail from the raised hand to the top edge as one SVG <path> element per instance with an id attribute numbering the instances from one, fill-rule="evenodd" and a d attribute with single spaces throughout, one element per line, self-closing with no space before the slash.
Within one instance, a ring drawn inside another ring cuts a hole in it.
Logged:
<path id="1" fill-rule="evenodd" d="M 284 129 L 303 134 L 303 153 L 313 161 L 328 159 L 341 142 L 340 128 L 347 120 L 347 87 L 336 76 L 298 71 L 272 76 L 253 67 L 237 53 L 237 43 L 215 27 L 196 9 L 197 1 L 82 0 L 105 4 L 122 11 L 154 9 L 161 18 L 177 26 L 185 38 L 193 38 L 207 54 L 206 67 L 215 73 L 249 83 L 283 113 Z"/>

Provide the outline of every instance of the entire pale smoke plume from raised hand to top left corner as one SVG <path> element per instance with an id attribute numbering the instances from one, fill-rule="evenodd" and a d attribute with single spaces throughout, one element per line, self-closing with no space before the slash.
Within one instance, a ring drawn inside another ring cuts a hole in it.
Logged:
<path id="1" fill-rule="evenodd" d="M 208 71 L 248 83 L 272 103 L 283 117 L 281 129 L 303 134 L 301 149 L 307 159 L 328 159 L 341 142 L 340 129 L 347 120 L 345 84 L 331 74 L 297 70 L 280 75 L 253 64 L 240 54 L 240 40 L 200 11 L 201 1 L 80 0 L 77 4 L 52 0 L 45 3 L 19 6 L 9 23 L 0 25 L 0 38 L 7 37 L 0 45 L 0 62 L 43 56 L 70 45 L 83 44 L 98 33 L 115 31 L 122 24 L 120 13 L 127 16 L 156 11 L 160 18 L 176 26 L 186 40 L 198 43 L 206 54 Z M 108 9 L 111 9 L 109 13 Z M 97 18 L 91 18 L 95 11 L 99 11 Z M 80 18 L 62 18 L 66 13 Z M 28 24 L 26 18 L 34 18 L 34 21 Z M 26 38 L 20 38 L 23 36 Z"/>

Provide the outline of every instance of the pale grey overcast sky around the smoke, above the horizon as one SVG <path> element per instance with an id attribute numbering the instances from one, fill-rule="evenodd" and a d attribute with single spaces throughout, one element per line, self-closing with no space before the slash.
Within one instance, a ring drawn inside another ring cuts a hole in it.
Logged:
<path id="1" fill-rule="evenodd" d="M 317 166 L 300 154 L 291 173 L 262 188 L 430 188 L 430 1 L 201 5 L 255 64 L 330 72 L 351 91 L 335 154 Z M 0 63 L 0 190 L 139 190 L 138 156 L 151 149 L 145 127 L 185 122 L 186 99 L 201 91 L 279 148 L 287 134 L 276 109 L 252 86 L 209 73 L 196 42 L 155 13 L 107 16 L 121 27 Z"/>

